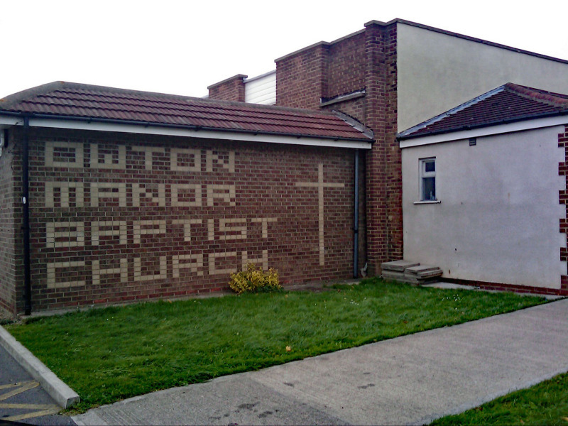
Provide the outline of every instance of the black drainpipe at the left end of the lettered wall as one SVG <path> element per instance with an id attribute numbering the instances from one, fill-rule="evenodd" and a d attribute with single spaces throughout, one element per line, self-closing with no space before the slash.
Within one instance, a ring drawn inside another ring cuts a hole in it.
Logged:
<path id="1" fill-rule="evenodd" d="M 31 273 L 30 273 L 30 208 L 29 208 L 29 181 L 28 181 L 28 142 L 30 119 L 23 116 L 22 140 L 22 207 L 23 207 L 23 299 L 24 313 L 31 314 Z"/>

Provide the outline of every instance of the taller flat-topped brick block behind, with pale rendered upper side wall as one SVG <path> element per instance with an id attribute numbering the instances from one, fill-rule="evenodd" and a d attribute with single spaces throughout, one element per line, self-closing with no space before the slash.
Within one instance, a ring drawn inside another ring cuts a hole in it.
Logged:
<path id="1" fill-rule="evenodd" d="M 361 266 L 403 257 L 402 169 L 396 139 L 435 114 L 506 82 L 568 93 L 568 61 L 402 19 L 275 60 L 275 104 L 342 111 L 375 134 L 366 152 Z M 245 101 L 246 75 L 209 86 L 209 97 Z M 255 83 L 256 84 L 256 83 Z M 253 97 L 251 97 L 253 99 Z M 254 102 L 253 100 L 249 102 Z"/>

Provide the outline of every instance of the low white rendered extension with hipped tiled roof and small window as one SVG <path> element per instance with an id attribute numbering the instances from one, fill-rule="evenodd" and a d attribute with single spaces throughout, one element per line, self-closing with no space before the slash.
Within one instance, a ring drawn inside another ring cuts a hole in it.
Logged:
<path id="1" fill-rule="evenodd" d="M 401 132 L 404 258 L 567 291 L 567 125 L 568 96 L 505 84 Z"/>

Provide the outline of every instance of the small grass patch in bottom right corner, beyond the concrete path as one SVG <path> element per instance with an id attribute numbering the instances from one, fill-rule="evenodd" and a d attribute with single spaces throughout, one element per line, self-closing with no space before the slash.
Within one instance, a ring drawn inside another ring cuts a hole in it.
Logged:
<path id="1" fill-rule="evenodd" d="M 431 425 L 568 425 L 568 373 Z"/>

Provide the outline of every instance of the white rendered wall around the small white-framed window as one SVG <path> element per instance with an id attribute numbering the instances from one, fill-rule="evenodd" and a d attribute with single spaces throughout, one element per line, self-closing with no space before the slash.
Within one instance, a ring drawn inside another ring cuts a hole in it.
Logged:
<path id="1" fill-rule="evenodd" d="M 445 277 L 560 288 L 566 235 L 563 126 L 404 148 L 404 258 Z M 439 204 L 419 198 L 419 159 L 436 158 Z"/>

